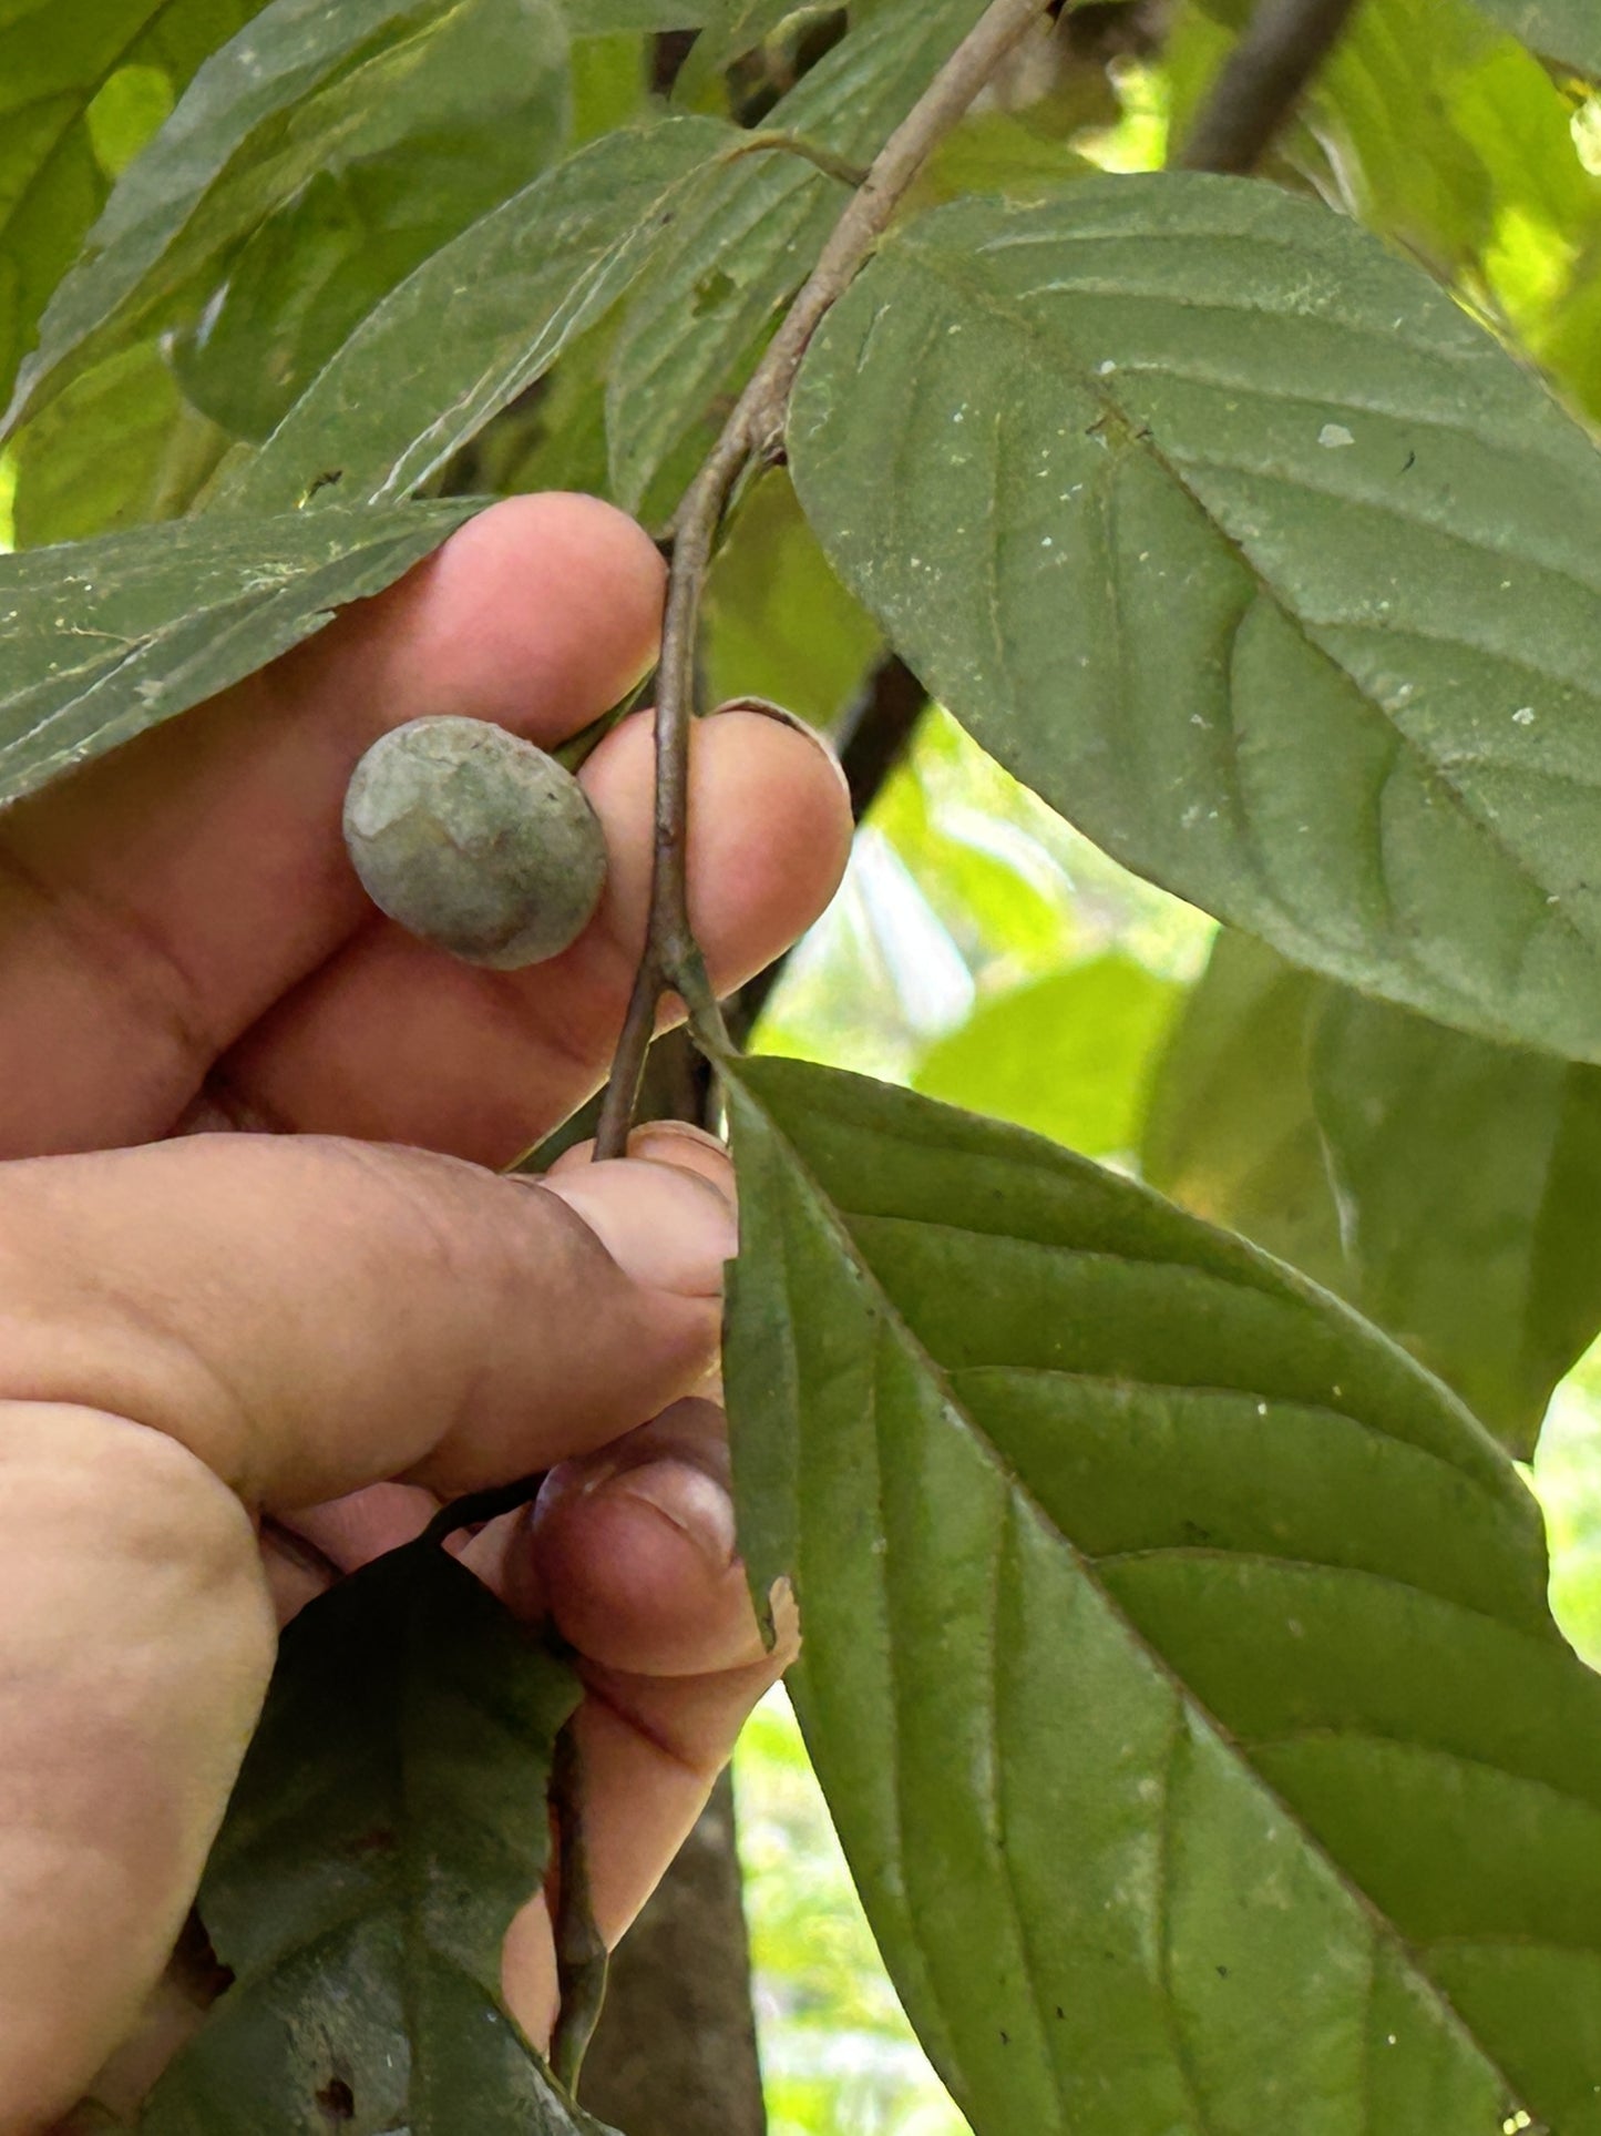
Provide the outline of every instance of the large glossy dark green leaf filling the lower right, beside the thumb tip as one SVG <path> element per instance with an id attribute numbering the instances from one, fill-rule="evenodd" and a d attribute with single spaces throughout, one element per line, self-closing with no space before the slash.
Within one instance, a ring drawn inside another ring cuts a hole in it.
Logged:
<path id="1" fill-rule="evenodd" d="M 980 2136 L 1595 2136 L 1601 1681 L 1505 1455 L 1050 1143 L 728 1089 L 743 1549 Z"/>

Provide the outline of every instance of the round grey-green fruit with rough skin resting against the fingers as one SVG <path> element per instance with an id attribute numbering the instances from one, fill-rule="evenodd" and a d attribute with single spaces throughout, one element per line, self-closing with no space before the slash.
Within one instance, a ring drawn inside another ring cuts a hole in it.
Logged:
<path id="1" fill-rule="evenodd" d="M 574 775 L 487 720 L 408 720 L 374 741 L 350 773 L 344 842 L 380 912 L 495 972 L 559 957 L 606 880 Z"/>

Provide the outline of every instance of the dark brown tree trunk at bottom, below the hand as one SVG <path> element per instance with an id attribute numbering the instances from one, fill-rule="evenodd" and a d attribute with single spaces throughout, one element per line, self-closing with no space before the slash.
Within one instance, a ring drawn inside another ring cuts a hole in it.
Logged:
<path id="1" fill-rule="evenodd" d="M 578 2091 L 623 2136 L 766 2132 L 726 1773 L 613 1957 Z"/>

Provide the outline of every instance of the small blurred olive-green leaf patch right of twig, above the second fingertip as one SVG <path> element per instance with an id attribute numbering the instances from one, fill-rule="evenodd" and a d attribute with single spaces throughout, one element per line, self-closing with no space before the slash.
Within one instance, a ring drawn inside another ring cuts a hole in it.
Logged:
<path id="1" fill-rule="evenodd" d="M 707 698 L 766 696 L 833 726 L 884 649 L 828 568 L 786 474 L 756 483 L 707 579 Z"/>

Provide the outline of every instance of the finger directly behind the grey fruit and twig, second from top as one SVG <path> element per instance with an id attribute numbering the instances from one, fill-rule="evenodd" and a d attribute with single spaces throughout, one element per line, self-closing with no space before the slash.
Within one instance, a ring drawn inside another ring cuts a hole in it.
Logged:
<path id="1" fill-rule="evenodd" d="M 564 957 L 478 972 L 371 927 L 224 1059 L 243 1117 L 506 1164 L 581 1104 L 606 1070 L 645 940 L 651 720 L 608 735 L 583 780 L 611 871 Z M 813 737 L 749 711 L 696 728 L 689 904 L 713 985 L 732 989 L 822 912 L 850 835 L 839 767 Z"/>

